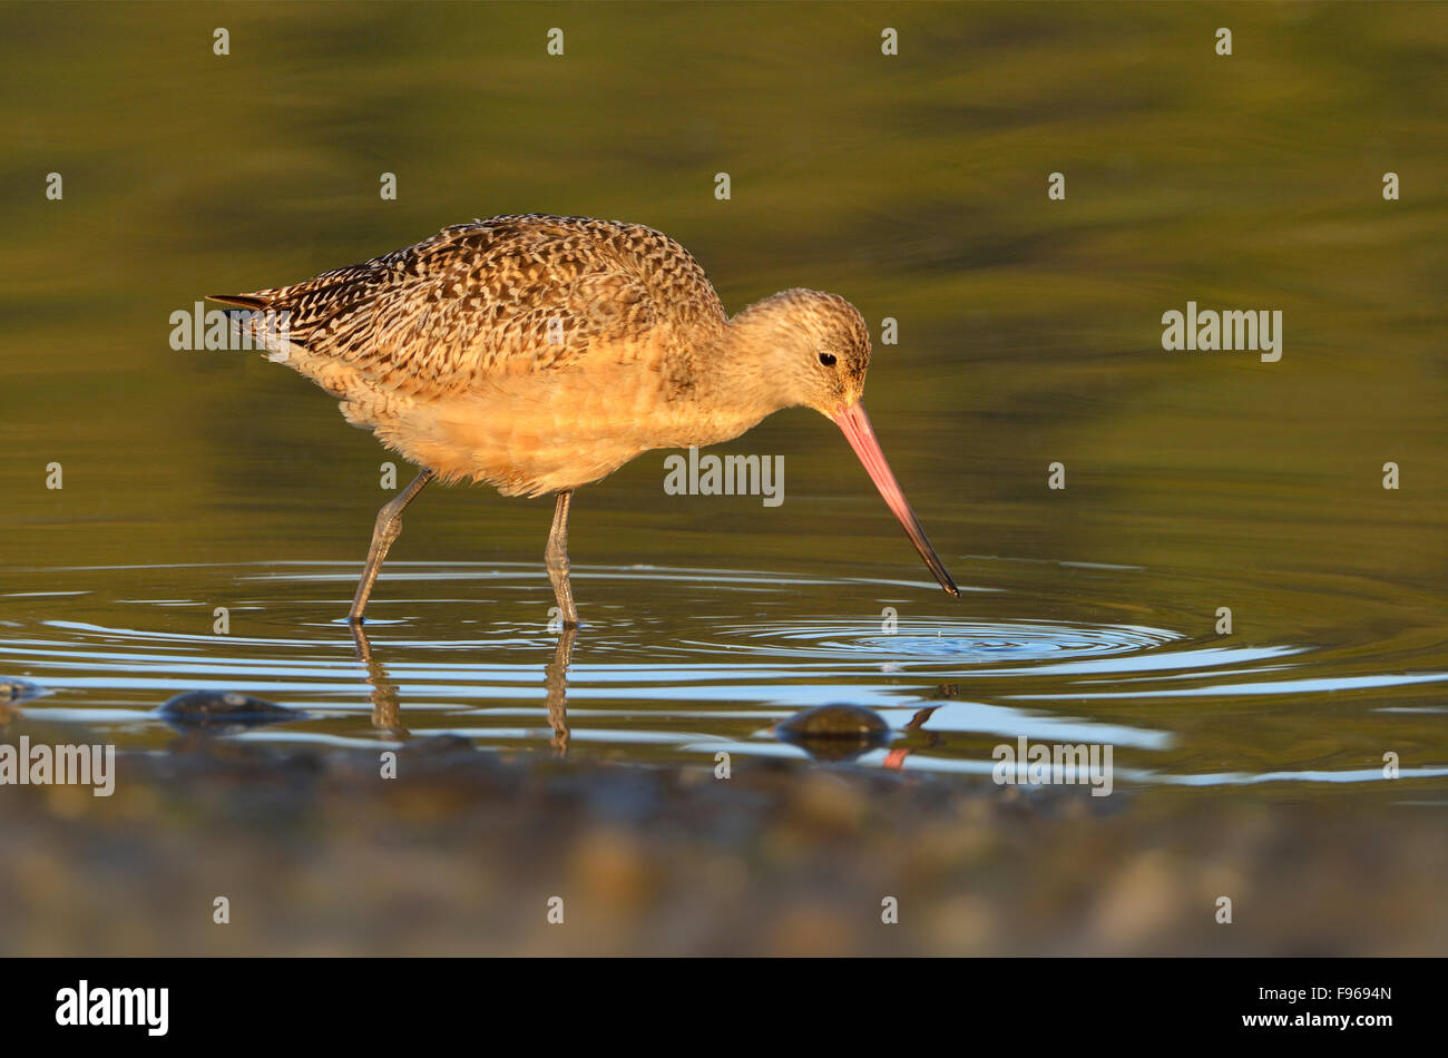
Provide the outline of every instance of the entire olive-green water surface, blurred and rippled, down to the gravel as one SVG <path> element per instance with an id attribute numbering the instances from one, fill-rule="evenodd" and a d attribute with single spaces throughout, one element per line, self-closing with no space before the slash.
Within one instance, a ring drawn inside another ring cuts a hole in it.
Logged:
<path id="1" fill-rule="evenodd" d="M 204 9 L 155 10 L 0 13 L 65 42 L 12 48 L 0 104 L 25 714 L 161 750 L 161 702 L 239 690 L 306 711 L 240 740 L 708 764 L 804 756 L 772 725 L 850 703 L 893 732 L 862 767 L 986 774 L 1025 735 L 1114 745 L 1122 786 L 1448 803 L 1448 10 L 1231 6 L 1231 77 L 1184 43 L 1226 17 L 1199 6 L 599 4 L 546 75 L 529 9 L 239 9 L 220 67 Z M 785 457 L 778 508 L 666 495 L 663 453 L 579 494 L 566 687 L 547 505 L 479 491 L 410 508 L 359 657 L 394 457 L 278 365 L 174 352 L 168 316 L 530 210 L 660 227 L 730 310 L 811 285 L 896 318 L 867 404 L 963 598 L 795 411 L 723 446 Z M 1164 352 L 1187 300 L 1283 310 L 1283 359 Z"/>

